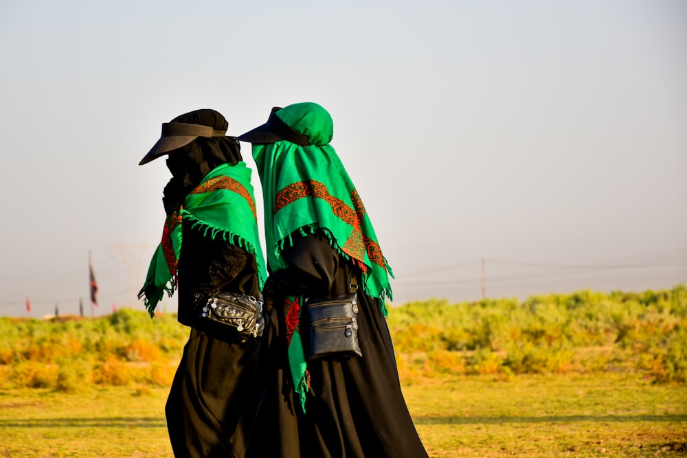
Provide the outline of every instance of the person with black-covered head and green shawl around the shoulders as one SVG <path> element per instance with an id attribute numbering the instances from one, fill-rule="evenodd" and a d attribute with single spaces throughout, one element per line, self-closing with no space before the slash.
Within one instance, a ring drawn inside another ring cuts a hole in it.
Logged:
<path id="1" fill-rule="evenodd" d="M 213 293 L 260 297 L 264 260 L 240 144 L 214 110 L 177 116 L 140 161 L 167 156 L 166 221 L 139 298 L 151 317 L 179 290 L 178 319 L 190 326 L 166 404 L 176 457 L 243 458 L 262 393 L 259 339 L 205 317 Z"/>

